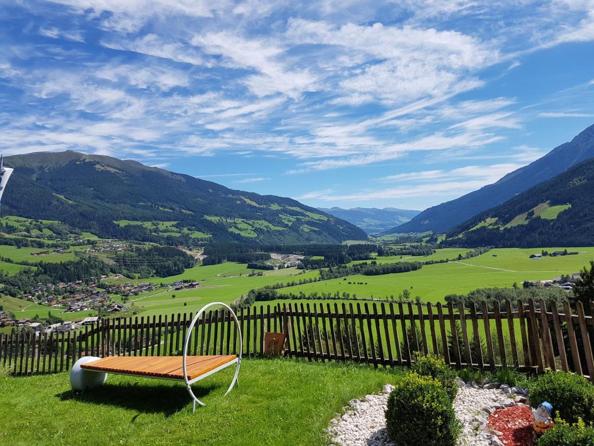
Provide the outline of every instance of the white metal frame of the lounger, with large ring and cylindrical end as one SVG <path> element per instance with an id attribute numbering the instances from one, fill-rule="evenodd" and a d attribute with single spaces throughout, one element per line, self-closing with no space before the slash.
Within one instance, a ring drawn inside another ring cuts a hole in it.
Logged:
<path id="1" fill-rule="evenodd" d="M 237 327 L 237 334 L 239 336 L 239 353 L 235 359 L 230 360 L 229 362 L 226 362 L 225 364 L 220 365 L 213 370 L 203 373 L 203 375 L 199 375 L 194 379 L 189 379 L 187 358 L 188 358 L 188 348 L 189 348 L 189 345 L 192 340 L 192 330 L 195 328 L 195 325 L 198 322 L 198 320 L 200 319 L 200 316 L 203 315 L 203 313 L 206 311 L 206 309 L 208 309 L 209 307 L 212 307 L 212 306 L 216 306 L 216 305 L 225 307 L 226 309 L 229 310 L 230 315 L 233 316 L 233 320 L 235 321 L 235 325 Z M 225 395 L 227 395 L 233 389 L 235 384 L 239 385 L 238 375 L 239 375 L 239 368 L 241 367 L 241 353 L 242 353 L 243 349 L 244 349 L 244 343 L 243 343 L 242 336 L 241 336 L 241 325 L 239 324 L 239 319 L 237 318 L 237 315 L 235 314 L 235 312 L 233 312 L 231 307 L 226 303 L 211 302 L 211 303 L 206 304 L 205 306 L 203 306 L 200 309 L 200 311 L 194 316 L 194 319 L 192 319 L 192 322 L 189 325 L 188 334 L 186 335 L 186 338 L 184 341 L 184 351 L 183 351 L 183 357 L 182 357 L 182 370 L 184 372 L 183 379 L 168 378 L 166 376 L 140 375 L 138 373 L 127 373 L 127 372 L 119 372 L 119 371 L 118 372 L 116 372 L 116 371 L 105 372 L 103 370 L 83 369 L 83 368 L 81 368 L 81 364 L 90 363 L 90 362 L 94 362 L 96 360 L 101 359 L 101 358 L 93 357 L 93 356 L 84 356 L 81 359 L 79 359 L 72 366 L 72 370 L 70 372 L 70 384 L 72 385 L 72 388 L 75 390 L 84 390 L 87 388 L 103 385 L 105 383 L 108 373 L 113 373 L 113 375 L 140 376 L 141 378 L 168 379 L 169 381 L 183 381 L 183 382 L 185 382 L 186 389 L 188 390 L 188 393 L 189 393 L 190 397 L 192 398 L 192 413 L 194 413 L 196 410 L 196 403 L 200 404 L 200 406 L 204 406 L 204 403 L 202 401 L 200 401 L 196 397 L 194 392 L 192 391 L 192 384 L 194 384 L 197 381 L 200 381 L 201 379 L 206 378 L 207 376 L 212 375 L 213 373 L 219 372 L 219 370 L 225 369 L 225 368 L 229 367 L 230 365 L 236 364 L 235 375 L 233 375 L 231 384 L 229 385 L 228 390 L 225 392 Z"/>

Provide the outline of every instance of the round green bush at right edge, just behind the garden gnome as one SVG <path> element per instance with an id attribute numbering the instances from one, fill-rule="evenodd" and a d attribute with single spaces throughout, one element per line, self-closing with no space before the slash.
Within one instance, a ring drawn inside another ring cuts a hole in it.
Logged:
<path id="1" fill-rule="evenodd" d="M 580 375 L 568 372 L 548 372 L 530 385 L 530 405 L 543 401 L 553 406 L 553 413 L 568 423 L 583 419 L 594 421 L 594 385 Z"/>

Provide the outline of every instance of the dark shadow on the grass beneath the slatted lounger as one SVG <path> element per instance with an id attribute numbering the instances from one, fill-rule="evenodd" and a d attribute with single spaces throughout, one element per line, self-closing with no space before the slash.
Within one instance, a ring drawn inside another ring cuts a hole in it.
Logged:
<path id="1" fill-rule="evenodd" d="M 192 387 L 192 391 L 197 398 L 202 398 L 219 387 L 215 384 L 201 385 Z M 141 413 L 163 413 L 165 416 L 171 416 L 192 403 L 184 384 L 179 386 L 105 384 L 84 392 L 69 390 L 57 394 L 56 397 L 62 401 L 82 401 L 137 410 Z"/>

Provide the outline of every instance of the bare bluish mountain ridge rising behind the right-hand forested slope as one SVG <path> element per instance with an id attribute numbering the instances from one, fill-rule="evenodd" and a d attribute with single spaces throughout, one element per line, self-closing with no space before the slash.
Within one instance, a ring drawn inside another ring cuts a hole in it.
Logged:
<path id="1" fill-rule="evenodd" d="M 594 156 L 594 125 L 583 130 L 571 142 L 555 147 L 542 158 L 510 172 L 496 183 L 425 209 L 409 222 L 387 231 L 386 234 L 426 231 L 445 233 L 472 218 L 473 215 L 500 205 L 516 194 L 592 156 Z"/>

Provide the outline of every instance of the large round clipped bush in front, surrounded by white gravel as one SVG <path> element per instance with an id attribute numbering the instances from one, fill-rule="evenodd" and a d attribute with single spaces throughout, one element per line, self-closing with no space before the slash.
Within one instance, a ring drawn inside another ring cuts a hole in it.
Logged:
<path id="1" fill-rule="evenodd" d="M 388 396 L 386 426 L 396 446 L 454 446 L 462 429 L 440 382 L 416 373 Z"/>

